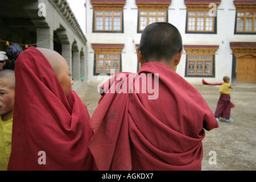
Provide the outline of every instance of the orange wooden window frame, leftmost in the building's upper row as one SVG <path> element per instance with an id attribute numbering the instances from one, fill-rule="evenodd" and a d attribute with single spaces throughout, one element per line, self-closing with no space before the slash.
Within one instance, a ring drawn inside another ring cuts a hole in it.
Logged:
<path id="1" fill-rule="evenodd" d="M 102 11 L 102 15 L 98 15 L 97 12 Z M 111 12 L 110 15 L 107 15 L 106 12 Z M 120 13 L 119 15 L 114 15 L 115 12 Z M 97 29 L 97 17 L 102 17 L 102 30 Z M 106 22 L 105 18 L 112 18 L 112 28 L 110 30 L 106 30 Z M 114 17 L 120 18 L 120 29 L 114 30 Z M 105 33 L 123 33 L 123 10 L 94 10 L 93 12 L 93 32 L 105 32 Z"/>

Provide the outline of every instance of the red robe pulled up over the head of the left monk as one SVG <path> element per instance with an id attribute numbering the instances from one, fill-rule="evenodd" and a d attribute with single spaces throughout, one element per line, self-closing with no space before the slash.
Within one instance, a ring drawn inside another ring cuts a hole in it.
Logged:
<path id="1" fill-rule="evenodd" d="M 13 143 L 8 170 L 93 170 L 90 115 L 75 91 L 68 98 L 34 47 L 15 64 Z"/>

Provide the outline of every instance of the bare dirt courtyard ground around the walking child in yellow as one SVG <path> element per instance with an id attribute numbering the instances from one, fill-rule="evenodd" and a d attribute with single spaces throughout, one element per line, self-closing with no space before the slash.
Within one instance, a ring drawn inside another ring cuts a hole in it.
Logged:
<path id="1" fill-rule="evenodd" d="M 214 113 L 220 96 L 219 86 L 194 86 Z M 230 117 L 234 121 L 225 122 L 225 119 L 221 118 L 217 129 L 205 131 L 204 158 L 201 163 L 203 171 L 256 170 L 256 85 L 233 85 L 233 88 L 230 96 L 236 107 L 232 108 Z M 100 98 L 97 83 L 84 84 L 77 90 L 77 94 L 92 116 Z M 209 160 L 214 162 L 214 159 L 216 164 L 209 163 Z"/>

